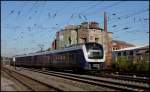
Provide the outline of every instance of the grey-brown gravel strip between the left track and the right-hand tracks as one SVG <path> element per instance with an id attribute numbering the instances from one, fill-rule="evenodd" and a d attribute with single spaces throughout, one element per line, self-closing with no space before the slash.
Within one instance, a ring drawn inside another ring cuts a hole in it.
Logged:
<path id="1" fill-rule="evenodd" d="M 35 78 L 44 79 L 43 81 L 53 83 L 53 85 L 61 85 L 61 87 L 64 87 L 66 90 L 71 90 L 74 89 L 77 91 L 78 90 L 84 90 L 84 91 L 114 91 L 112 89 L 106 88 L 106 87 L 100 87 L 100 86 L 95 86 L 91 84 L 86 84 L 78 81 L 73 81 L 61 77 L 56 77 L 56 76 L 50 76 L 50 75 L 45 75 L 37 72 L 32 72 L 32 71 L 27 71 L 27 70 L 19 70 L 19 72 L 23 72 L 26 75 L 33 76 Z M 37 77 L 38 76 L 38 77 Z M 64 86 L 66 85 L 66 86 Z M 68 87 L 68 88 L 66 88 Z"/>

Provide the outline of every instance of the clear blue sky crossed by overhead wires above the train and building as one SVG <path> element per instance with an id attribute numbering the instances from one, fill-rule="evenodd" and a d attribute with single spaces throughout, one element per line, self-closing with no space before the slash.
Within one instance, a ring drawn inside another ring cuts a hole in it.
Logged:
<path id="1" fill-rule="evenodd" d="M 136 46 L 149 44 L 148 1 L 1 1 L 1 55 L 33 53 L 51 47 L 67 25 L 96 21 L 113 39 Z"/>

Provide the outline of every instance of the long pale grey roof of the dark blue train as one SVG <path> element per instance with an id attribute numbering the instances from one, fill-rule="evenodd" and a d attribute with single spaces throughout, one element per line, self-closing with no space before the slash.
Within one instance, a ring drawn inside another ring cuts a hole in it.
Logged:
<path id="1" fill-rule="evenodd" d="M 57 49 L 57 50 L 52 50 L 52 51 L 44 51 L 44 52 L 36 52 L 36 53 L 29 53 L 29 54 L 23 54 L 23 55 L 16 55 L 14 57 L 26 57 L 26 56 L 43 55 L 43 54 L 59 53 L 59 52 L 77 50 L 77 49 L 81 49 L 83 45 L 84 44 L 72 45 L 72 46 L 69 46 L 69 47 L 63 48 L 63 49 Z"/>

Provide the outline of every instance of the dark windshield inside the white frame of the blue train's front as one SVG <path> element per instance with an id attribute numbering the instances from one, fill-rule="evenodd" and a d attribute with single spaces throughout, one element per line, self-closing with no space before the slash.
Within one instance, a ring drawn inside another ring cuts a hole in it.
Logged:
<path id="1" fill-rule="evenodd" d="M 89 59 L 102 59 L 103 47 L 97 43 L 86 43 L 86 50 Z"/>

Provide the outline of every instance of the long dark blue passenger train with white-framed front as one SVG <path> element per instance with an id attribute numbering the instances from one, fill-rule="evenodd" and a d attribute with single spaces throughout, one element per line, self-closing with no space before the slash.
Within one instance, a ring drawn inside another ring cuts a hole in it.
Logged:
<path id="1" fill-rule="evenodd" d="M 10 65 L 58 70 L 101 70 L 105 54 L 103 45 L 95 42 L 72 45 L 64 49 L 17 55 Z"/>

